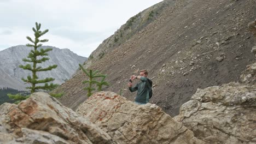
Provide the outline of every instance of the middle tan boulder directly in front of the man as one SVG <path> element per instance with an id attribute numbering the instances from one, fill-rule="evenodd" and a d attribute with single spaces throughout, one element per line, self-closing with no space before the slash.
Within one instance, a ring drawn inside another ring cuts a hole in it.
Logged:
<path id="1" fill-rule="evenodd" d="M 120 143 L 205 143 L 159 106 L 137 105 L 114 92 L 95 93 L 76 112 Z"/>

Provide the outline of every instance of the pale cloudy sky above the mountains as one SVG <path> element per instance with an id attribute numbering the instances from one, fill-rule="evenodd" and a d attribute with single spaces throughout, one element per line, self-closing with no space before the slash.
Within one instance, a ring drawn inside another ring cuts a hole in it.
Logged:
<path id="1" fill-rule="evenodd" d="M 32 27 L 49 29 L 43 45 L 89 57 L 104 39 L 160 0 L 0 0 L 0 51 L 29 43 Z"/>

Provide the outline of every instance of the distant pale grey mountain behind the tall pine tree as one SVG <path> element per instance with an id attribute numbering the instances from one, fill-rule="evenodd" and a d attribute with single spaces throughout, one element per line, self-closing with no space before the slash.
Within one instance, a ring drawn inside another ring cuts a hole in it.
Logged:
<path id="1" fill-rule="evenodd" d="M 59 49 L 53 46 L 42 46 L 45 48 L 52 48 L 49 52 L 49 61 L 42 63 L 42 67 L 57 64 L 58 67 L 51 71 L 39 72 L 39 79 L 45 77 L 54 77 L 54 83 L 63 83 L 68 80 L 75 70 L 78 69 L 79 63 L 84 63 L 86 57 L 78 56 L 69 49 Z M 18 45 L 9 47 L 8 49 L 0 51 L 0 87 L 10 87 L 14 89 L 24 90 L 27 85 L 24 85 L 22 77 L 27 77 L 30 71 L 19 68 L 20 64 L 26 64 L 22 61 L 30 52 L 31 47 L 25 45 Z M 39 64 L 38 64 L 39 65 Z"/>

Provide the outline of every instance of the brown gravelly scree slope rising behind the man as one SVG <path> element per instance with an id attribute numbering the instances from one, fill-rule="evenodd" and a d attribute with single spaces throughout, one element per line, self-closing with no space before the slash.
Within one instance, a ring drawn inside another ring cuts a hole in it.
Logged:
<path id="1" fill-rule="evenodd" d="M 130 76 L 147 69 L 153 81 L 150 103 L 176 116 L 197 88 L 237 82 L 241 72 L 253 63 L 253 34 L 247 24 L 255 19 L 256 1 L 164 2 L 173 3 L 159 13 L 154 11 L 159 14 L 154 21 L 122 43 L 109 46 L 100 59 L 84 67 L 107 74 L 110 86 L 104 90 L 121 90 L 129 100 L 135 97 L 127 89 Z M 56 89 L 66 93 L 60 99 L 62 104 L 76 109 L 86 99 L 82 84 L 85 79 L 78 71 Z"/>

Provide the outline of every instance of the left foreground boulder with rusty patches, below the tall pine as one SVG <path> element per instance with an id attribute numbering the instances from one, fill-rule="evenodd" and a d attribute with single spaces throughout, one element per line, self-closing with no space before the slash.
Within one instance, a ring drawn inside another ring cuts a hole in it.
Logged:
<path id="1" fill-rule="evenodd" d="M 0 143 L 117 143 L 97 125 L 37 92 L 0 106 Z"/>

